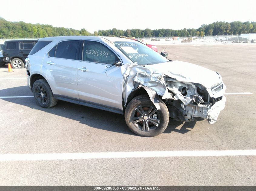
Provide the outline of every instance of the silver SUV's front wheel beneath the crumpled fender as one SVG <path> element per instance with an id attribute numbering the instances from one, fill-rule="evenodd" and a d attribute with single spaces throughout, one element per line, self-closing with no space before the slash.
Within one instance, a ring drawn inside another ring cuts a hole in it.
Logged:
<path id="1" fill-rule="evenodd" d="M 133 98 L 125 109 L 125 122 L 131 131 L 144 137 L 154 137 L 164 132 L 169 123 L 169 111 L 161 100 L 159 105 L 160 110 L 157 110 L 148 95 Z"/>

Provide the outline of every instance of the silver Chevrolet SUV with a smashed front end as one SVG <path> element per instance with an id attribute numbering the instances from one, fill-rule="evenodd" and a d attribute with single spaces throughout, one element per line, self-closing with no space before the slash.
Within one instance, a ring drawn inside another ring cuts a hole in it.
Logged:
<path id="1" fill-rule="evenodd" d="M 218 73 L 124 38 L 42 38 L 26 68 L 41 107 L 64 100 L 124 114 L 131 131 L 147 137 L 164 132 L 169 118 L 212 124 L 226 100 Z"/>

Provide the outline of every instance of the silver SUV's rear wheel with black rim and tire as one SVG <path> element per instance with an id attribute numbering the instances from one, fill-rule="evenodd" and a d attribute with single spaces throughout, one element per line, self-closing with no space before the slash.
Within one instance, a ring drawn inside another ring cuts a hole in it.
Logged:
<path id="1" fill-rule="evenodd" d="M 58 100 L 53 97 L 52 90 L 45 79 L 40 79 L 33 84 L 35 100 L 41 107 L 49 108 L 57 104 Z"/>

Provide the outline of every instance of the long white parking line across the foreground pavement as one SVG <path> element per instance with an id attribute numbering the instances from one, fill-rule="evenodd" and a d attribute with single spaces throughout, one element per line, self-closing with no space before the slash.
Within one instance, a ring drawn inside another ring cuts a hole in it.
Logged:
<path id="1" fill-rule="evenodd" d="M 0 154 L 0 161 L 48 161 L 98 158 L 204 157 L 256 155 L 256 150 L 135 151 L 96 153 Z"/>

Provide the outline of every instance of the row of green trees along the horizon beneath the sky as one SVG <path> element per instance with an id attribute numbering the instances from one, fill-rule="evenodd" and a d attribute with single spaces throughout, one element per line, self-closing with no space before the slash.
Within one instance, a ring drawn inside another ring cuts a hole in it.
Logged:
<path id="1" fill-rule="evenodd" d="M 185 37 L 204 35 L 230 35 L 241 33 L 256 33 L 256 22 L 233 21 L 231 23 L 217 21 L 211 24 L 203 24 L 198 29 L 127 29 L 98 30 L 89 33 L 85 28 L 75 30 L 72 28 L 53 27 L 47 24 L 31 24 L 23 21 L 10 22 L 0 17 L 0 38 L 42 38 L 54 36 L 113 36 L 113 37 Z"/>

